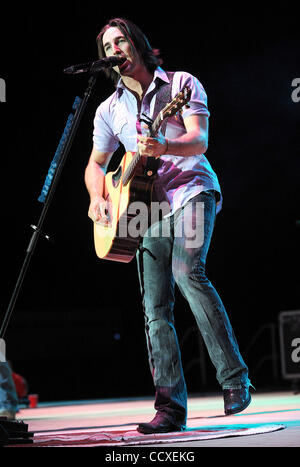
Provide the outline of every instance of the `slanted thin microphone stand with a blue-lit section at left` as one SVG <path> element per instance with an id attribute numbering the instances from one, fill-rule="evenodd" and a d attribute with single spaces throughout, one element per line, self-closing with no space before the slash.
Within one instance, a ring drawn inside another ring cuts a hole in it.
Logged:
<path id="1" fill-rule="evenodd" d="M 28 269 L 30 260 L 32 258 L 33 253 L 34 253 L 34 249 L 36 247 L 36 244 L 37 244 L 37 241 L 38 241 L 40 235 L 42 235 L 47 240 L 51 240 L 49 238 L 49 236 L 46 235 L 42 231 L 43 222 L 45 220 L 45 217 L 46 217 L 47 211 L 49 209 L 49 206 L 51 204 L 55 189 L 56 189 L 57 184 L 59 182 L 61 172 L 62 172 L 63 167 L 65 165 L 67 156 L 69 154 L 72 142 L 74 140 L 74 137 L 75 137 L 79 122 L 80 122 L 80 120 L 82 118 L 82 115 L 83 115 L 83 112 L 85 110 L 87 101 L 88 101 L 88 99 L 90 97 L 90 94 L 92 92 L 92 89 L 93 89 L 93 87 L 94 87 L 94 85 L 95 85 L 95 83 L 97 81 L 97 77 L 98 77 L 98 73 L 93 73 L 90 76 L 90 79 L 88 81 L 88 86 L 87 86 L 87 88 L 85 90 L 83 99 L 81 99 L 79 97 L 76 97 L 76 99 L 74 101 L 74 104 L 73 104 L 73 107 L 72 107 L 75 110 L 75 114 L 73 115 L 73 113 L 71 113 L 69 115 L 69 118 L 68 118 L 65 130 L 64 130 L 63 136 L 62 136 L 62 138 L 60 140 L 60 143 L 58 145 L 58 148 L 57 148 L 57 151 L 55 153 L 54 159 L 53 159 L 53 161 L 51 163 L 51 166 L 49 168 L 48 175 L 47 175 L 47 178 L 45 180 L 44 187 L 42 189 L 42 193 L 41 193 L 41 195 L 40 195 L 40 197 L 38 199 L 40 202 L 44 203 L 44 207 L 42 209 L 42 212 L 41 212 L 41 215 L 40 215 L 40 218 L 39 218 L 39 221 L 38 221 L 37 225 L 31 225 L 34 232 L 32 234 L 30 242 L 28 244 L 25 259 L 24 259 L 23 265 L 21 267 L 21 270 L 20 270 L 16 285 L 15 285 L 13 294 L 11 296 L 7 311 L 6 311 L 4 319 L 3 319 L 3 323 L 2 323 L 2 326 L 1 326 L 1 330 L 0 330 L 0 338 L 1 339 L 4 338 L 4 335 L 5 335 L 9 320 L 11 318 L 11 315 L 13 313 L 13 309 L 14 309 L 16 300 L 18 298 L 18 295 L 19 295 L 19 292 L 20 292 L 20 289 L 21 289 L 21 286 L 22 286 L 26 271 Z"/>

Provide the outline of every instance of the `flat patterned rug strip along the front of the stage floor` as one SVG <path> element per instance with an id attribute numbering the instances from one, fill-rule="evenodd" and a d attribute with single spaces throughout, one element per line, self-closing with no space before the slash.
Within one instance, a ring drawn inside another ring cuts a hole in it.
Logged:
<path id="1" fill-rule="evenodd" d="M 26 447 L 92 447 L 92 446 L 143 446 L 159 445 L 160 443 L 178 443 L 186 441 L 201 441 L 215 438 L 233 436 L 248 436 L 270 433 L 284 429 L 284 425 L 234 425 L 189 428 L 182 432 L 142 435 L 136 430 L 132 431 L 93 431 L 76 430 L 64 432 L 35 433 L 32 444 Z M 21 446 L 21 445 L 19 445 Z M 16 445 L 15 445 L 16 447 Z"/>

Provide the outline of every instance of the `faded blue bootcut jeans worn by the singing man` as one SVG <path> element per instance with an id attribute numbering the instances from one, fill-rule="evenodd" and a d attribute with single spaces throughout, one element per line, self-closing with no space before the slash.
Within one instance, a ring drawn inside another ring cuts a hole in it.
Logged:
<path id="1" fill-rule="evenodd" d="M 137 252 L 155 409 L 177 425 L 186 423 L 187 389 L 174 327 L 175 284 L 194 314 L 219 384 L 223 389 L 250 385 L 224 305 L 205 275 L 215 218 L 215 192 L 204 191 L 152 225 Z M 193 232 L 199 237 L 194 243 Z"/>

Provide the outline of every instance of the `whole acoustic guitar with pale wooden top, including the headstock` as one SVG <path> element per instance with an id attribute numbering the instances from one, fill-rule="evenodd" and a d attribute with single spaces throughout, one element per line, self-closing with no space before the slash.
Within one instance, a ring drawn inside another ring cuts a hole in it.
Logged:
<path id="1" fill-rule="evenodd" d="M 191 90 L 185 86 L 159 112 L 154 122 L 148 120 L 149 136 L 155 137 L 163 121 L 181 111 L 184 105 L 187 106 L 190 97 Z M 130 223 L 136 222 L 139 214 L 130 210 L 130 206 L 135 202 L 139 202 L 139 205 L 143 203 L 149 214 L 155 181 L 155 173 L 144 170 L 145 159 L 139 151 L 126 152 L 117 170 L 105 176 L 107 219 L 94 222 L 95 250 L 101 259 L 129 263 L 136 254 L 143 232 L 130 228 Z"/>

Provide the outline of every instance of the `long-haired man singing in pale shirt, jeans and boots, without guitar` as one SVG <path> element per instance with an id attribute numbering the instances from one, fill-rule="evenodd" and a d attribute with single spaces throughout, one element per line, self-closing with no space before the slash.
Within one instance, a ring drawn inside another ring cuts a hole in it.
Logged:
<path id="1" fill-rule="evenodd" d="M 94 146 L 85 173 L 89 216 L 94 222 L 105 221 L 104 176 L 120 142 L 126 151 L 138 149 L 146 160 L 159 158 L 155 196 L 159 202 L 168 201 L 170 213 L 151 226 L 151 234 L 146 232 L 137 252 L 157 413 L 150 423 L 141 423 L 138 431 L 180 431 L 186 424 L 187 390 L 174 328 L 175 283 L 190 305 L 216 367 L 225 413 L 240 412 L 251 401 L 247 366 L 222 301 L 205 275 L 206 255 L 221 204 L 217 176 L 204 156 L 209 117 L 206 94 L 189 73 L 162 70 L 157 51 L 128 20 L 111 20 L 97 42 L 100 58 L 115 55 L 125 61 L 109 72 L 117 83 L 116 91 L 96 111 Z M 141 117 L 153 118 L 161 110 L 162 96 L 169 91 L 173 98 L 184 85 L 191 89 L 189 108 L 180 118 L 170 118 L 157 137 L 143 135 Z M 203 211 L 197 206 L 204 206 Z M 166 236 L 167 222 L 170 231 Z M 202 232 L 201 242 L 187 241 L 191 225 Z"/>

